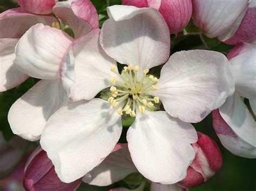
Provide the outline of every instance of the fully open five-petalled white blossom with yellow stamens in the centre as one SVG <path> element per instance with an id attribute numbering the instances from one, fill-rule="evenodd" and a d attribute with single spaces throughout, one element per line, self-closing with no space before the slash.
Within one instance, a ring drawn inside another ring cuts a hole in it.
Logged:
<path id="1" fill-rule="evenodd" d="M 199 50 L 167 61 L 170 33 L 156 9 L 114 5 L 107 12 L 102 30 L 73 41 L 62 59 L 62 82 L 76 102 L 50 117 L 41 146 L 60 180 L 74 181 L 109 155 L 122 115 L 130 115 L 136 119 L 127 141 L 138 171 L 153 182 L 176 183 L 194 158 L 197 134 L 187 122 L 201 121 L 233 94 L 230 63 L 223 54 Z M 121 74 L 115 60 L 127 65 Z M 159 79 L 148 75 L 162 63 Z M 93 98 L 109 87 L 107 101 Z M 160 101 L 166 111 L 148 110 Z"/>

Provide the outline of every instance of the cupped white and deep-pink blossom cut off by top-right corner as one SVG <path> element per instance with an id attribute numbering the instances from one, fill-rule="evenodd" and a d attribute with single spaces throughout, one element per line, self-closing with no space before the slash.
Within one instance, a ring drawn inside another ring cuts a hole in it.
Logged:
<path id="1" fill-rule="evenodd" d="M 209 37 L 236 45 L 256 38 L 255 0 L 192 0 L 194 23 Z"/>

